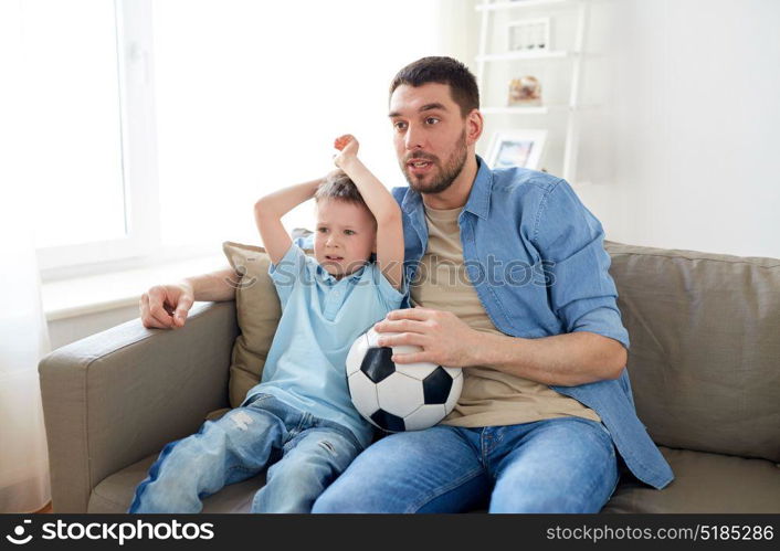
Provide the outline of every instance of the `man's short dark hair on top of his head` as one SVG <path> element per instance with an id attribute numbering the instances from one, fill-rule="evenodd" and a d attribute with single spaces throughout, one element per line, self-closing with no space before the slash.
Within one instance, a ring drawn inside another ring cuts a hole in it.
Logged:
<path id="1" fill-rule="evenodd" d="M 402 84 L 422 86 L 428 83 L 450 85 L 452 99 L 461 107 L 463 118 L 479 108 L 479 88 L 468 67 L 452 57 L 429 56 L 410 63 L 390 83 L 390 96 Z"/>

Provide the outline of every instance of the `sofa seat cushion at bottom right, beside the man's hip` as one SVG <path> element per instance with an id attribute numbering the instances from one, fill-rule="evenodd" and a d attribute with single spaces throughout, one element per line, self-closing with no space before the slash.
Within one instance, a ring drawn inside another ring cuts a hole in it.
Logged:
<path id="1" fill-rule="evenodd" d="M 780 467 L 661 447 L 675 479 L 663 491 L 631 479 L 621 483 L 601 512 L 780 512 Z"/>

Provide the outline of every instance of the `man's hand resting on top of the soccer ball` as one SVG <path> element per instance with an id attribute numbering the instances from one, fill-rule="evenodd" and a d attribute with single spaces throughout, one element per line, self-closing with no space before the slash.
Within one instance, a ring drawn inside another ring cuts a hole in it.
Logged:
<path id="1" fill-rule="evenodd" d="M 380 333 L 399 333 L 380 337 L 380 347 L 417 345 L 422 348 L 421 352 L 394 354 L 396 363 L 429 361 L 449 368 L 474 364 L 471 352 L 477 347 L 478 332 L 452 312 L 430 308 L 392 310 L 373 328 Z"/>

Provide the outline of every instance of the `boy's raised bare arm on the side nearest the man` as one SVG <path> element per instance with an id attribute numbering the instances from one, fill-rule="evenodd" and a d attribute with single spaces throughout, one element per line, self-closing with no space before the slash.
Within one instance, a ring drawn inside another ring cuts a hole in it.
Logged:
<path id="1" fill-rule="evenodd" d="M 403 225 L 401 209 L 388 189 L 358 159 L 358 140 L 347 134 L 336 138 L 341 151 L 334 158 L 338 168 L 358 187 L 371 214 L 377 219 L 377 265 L 397 289 L 403 285 Z"/>

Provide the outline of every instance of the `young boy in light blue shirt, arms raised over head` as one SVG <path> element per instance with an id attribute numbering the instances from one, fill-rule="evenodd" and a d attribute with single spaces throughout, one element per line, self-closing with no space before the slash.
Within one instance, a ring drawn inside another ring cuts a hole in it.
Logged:
<path id="1" fill-rule="evenodd" d="M 255 204 L 282 303 L 261 383 L 240 407 L 168 444 L 129 512 L 199 512 L 202 497 L 270 464 L 252 512 L 309 512 L 369 444 L 371 426 L 351 404 L 345 362 L 355 339 L 401 304 L 403 231 L 392 195 L 357 158 L 357 140 L 341 136 L 335 147 L 341 171 Z M 281 222 L 312 197 L 314 258 Z"/>

